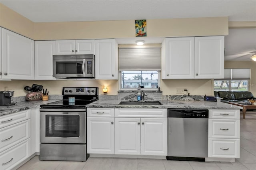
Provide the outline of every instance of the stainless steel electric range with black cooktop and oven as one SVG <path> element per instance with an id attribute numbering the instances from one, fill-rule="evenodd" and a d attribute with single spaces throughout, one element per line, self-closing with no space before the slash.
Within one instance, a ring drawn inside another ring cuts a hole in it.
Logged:
<path id="1" fill-rule="evenodd" d="M 62 101 L 40 106 L 39 158 L 85 161 L 86 105 L 98 100 L 98 87 L 63 87 L 62 95 Z"/>

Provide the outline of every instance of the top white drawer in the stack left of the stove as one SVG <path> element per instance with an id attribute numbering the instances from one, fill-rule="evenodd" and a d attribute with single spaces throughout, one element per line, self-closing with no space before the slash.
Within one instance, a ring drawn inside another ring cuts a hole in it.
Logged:
<path id="1" fill-rule="evenodd" d="M 30 109 L 0 117 L 0 128 L 30 119 Z"/>

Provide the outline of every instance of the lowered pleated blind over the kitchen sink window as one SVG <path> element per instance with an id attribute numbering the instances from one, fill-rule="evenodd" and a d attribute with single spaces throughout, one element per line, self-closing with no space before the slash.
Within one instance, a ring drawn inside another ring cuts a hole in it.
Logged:
<path id="1" fill-rule="evenodd" d="M 161 70 L 161 47 L 119 48 L 119 70 Z"/>

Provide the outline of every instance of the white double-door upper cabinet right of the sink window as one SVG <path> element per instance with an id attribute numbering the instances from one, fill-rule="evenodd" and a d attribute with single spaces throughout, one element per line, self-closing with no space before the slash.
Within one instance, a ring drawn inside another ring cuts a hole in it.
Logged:
<path id="1" fill-rule="evenodd" d="M 162 79 L 224 77 L 224 36 L 166 38 L 162 43 Z"/>

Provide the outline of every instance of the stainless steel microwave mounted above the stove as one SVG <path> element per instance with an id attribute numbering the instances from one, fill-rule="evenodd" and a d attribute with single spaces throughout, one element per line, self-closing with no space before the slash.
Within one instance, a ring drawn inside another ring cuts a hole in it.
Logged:
<path id="1" fill-rule="evenodd" d="M 95 79 L 95 55 L 53 55 L 53 77 Z"/>

